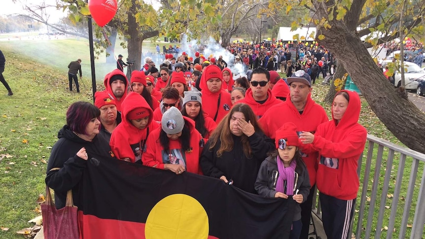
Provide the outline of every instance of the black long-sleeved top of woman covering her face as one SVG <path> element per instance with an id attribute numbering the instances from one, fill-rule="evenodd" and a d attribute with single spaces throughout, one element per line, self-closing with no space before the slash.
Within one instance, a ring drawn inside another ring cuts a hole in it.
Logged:
<path id="1" fill-rule="evenodd" d="M 232 136 L 233 150 L 223 152 L 221 157 L 217 157 L 221 142 L 217 142 L 213 151 L 210 151 L 211 141 L 208 141 L 201 154 L 199 165 L 204 175 L 216 178 L 224 175 L 227 180 L 233 179 L 233 186 L 256 194 L 254 183 L 258 170 L 267 153 L 275 148 L 274 142 L 261 132 L 254 133 L 248 137 L 252 150 L 252 157 L 248 158 L 243 152 L 241 137 Z"/>

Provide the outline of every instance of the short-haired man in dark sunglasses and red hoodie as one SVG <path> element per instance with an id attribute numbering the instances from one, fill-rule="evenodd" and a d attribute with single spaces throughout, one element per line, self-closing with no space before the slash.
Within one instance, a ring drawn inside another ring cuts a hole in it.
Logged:
<path id="1" fill-rule="evenodd" d="M 245 93 L 245 99 L 238 102 L 248 104 L 257 119 L 260 119 L 267 109 L 281 102 L 273 96 L 269 84 L 269 71 L 262 67 L 255 68 L 252 70 L 251 85 Z"/>

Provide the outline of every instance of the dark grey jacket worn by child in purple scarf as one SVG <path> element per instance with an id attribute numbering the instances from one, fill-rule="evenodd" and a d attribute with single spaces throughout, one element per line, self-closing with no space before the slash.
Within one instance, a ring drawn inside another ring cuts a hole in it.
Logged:
<path id="1" fill-rule="evenodd" d="M 279 177 L 278 162 L 276 157 L 267 157 L 261 164 L 260 170 L 258 171 L 257 180 L 255 181 L 255 190 L 260 196 L 266 198 L 274 198 L 276 194 L 276 184 Z M 310 178 L 307 168 L 304 166 L 302 171 L 295 169 L 295 181 L 296 185 L 294 194 L 298 191 L 298 194 L 303 195 L 303 203 L 307 200 L 310 193 Z M 286 182 L 285 182 L 286 184 Z M 291 199 L 292 200 L 292 199 Z M 295 207 L 293 221 L 301 219 L 301 207 L 299 204 Z"/>

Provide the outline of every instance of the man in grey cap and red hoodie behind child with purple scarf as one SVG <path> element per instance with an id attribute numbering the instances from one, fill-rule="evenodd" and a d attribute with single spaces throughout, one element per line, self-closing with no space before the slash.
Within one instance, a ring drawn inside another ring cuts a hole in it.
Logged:
<path id="1" fill-rule="evenodd" d="M 290 99 L 271 107 L 259 120 L 259 124 L 266 136 L 276 137 L 276 131 L 286 122 L 292 122 L 297 126 L 297 133 L 302 131 L 315 133 L 319 124 L 327 122 L 328 117 L 323 107 L 311 99 L 311 78 L 304 70 L 298 70 L 288 77 L 287 82 L 290 87 Z M 251 80 L 252 82 L 252 80 Z M 301 148 L 302 151 L 302 148 Z M 310 185 L 312 189 L 301 206 L 301 229 L 300 238 L 308 238 L 311 210 L 313 204 L 313 192 L 316 184 L 316 171 L 318 167 L 318 153 L 303 153 L 302 159 L 309 172 Z"/>

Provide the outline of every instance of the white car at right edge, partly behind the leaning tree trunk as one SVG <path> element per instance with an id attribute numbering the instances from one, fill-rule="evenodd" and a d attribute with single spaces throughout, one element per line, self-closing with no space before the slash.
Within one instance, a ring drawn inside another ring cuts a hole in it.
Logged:
<path id="1" fill-rule="evenodd" d="M 390 63 L 391 61 L 385 60 L 385 62 Z M 404 71 L 404 83 L 406 90 L 416 90 L 419 85 L 418 79 L 425 80 L 424 70 L 412 62 L 404 62 L 404 68 L 407 69 Z M 401 73 L 396 71 L 394 75 L 394 86 L 399 87 L 400 85 Z"/>

